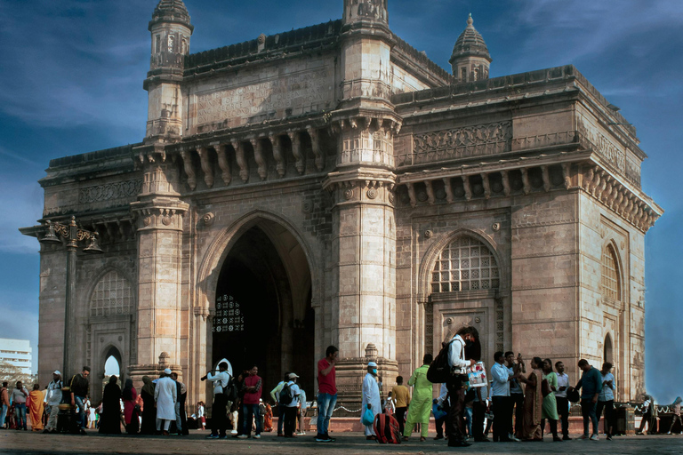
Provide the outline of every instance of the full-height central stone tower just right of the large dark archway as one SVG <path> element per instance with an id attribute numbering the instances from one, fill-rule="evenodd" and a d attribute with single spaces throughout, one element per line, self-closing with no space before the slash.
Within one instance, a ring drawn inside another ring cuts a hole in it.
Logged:
<path id="1" fill-rule="evenodd" d="M 331 334 L 343 360 L 337 366 L 340 402 L 372 360 L 385 378 L 398 372 L 396 342 L 396 221 L 392 189 L 393 140 L 401 118 L 390 102 L 387 0 L 344 0 L 342 92 L 331 113 L 337 162 L 323 186 L 333 194 L 333 257 L 336 288 Z"/>

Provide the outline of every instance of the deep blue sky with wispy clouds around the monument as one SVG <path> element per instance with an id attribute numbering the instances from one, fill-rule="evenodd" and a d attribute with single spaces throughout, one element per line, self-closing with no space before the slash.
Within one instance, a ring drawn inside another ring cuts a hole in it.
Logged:
<path id="1" fill-rule="evenodd" d="M 148 22 L 157 0 L 0 0 L 0 314 L 3 336 L 37 346 L 38 243 L 51 158 L 141 141 Z M 342 0 L 186 0 L 191 52 L 342 17 Z M 390 0 L 391 29 L 450 69 L 472 13 L 491 76 L 573 64 L 638 129 L 643 188 L 666 211 L 646 237 L 647 388 L 683 395 L 683 2 Z M 416 6 L 419 5 L 419 6 Z M 8 323 L 11 322 L 11 323 Z M 37 366 L 37 365 L 36 365 Z"/>

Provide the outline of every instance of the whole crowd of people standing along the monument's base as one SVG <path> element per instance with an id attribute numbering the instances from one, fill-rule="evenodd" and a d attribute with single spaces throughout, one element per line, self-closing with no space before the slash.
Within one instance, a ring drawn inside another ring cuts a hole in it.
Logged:
<path id="1" fill-rule="evenodd" d="M 398 376 L 396 386 L 391 388 L 386 398 L 382 398 L 378 364 L 367 363 L 360 409 L 366 439 L 377 439 L 374 420 L 378 414 L 386 412 L 397 419 L 398 431 L 404 441 L 409 441 L 414 431 L 420 434 L 420 441 L 426 441 L 430 416 L 433 415 L 437 430 L 434 439 L 446 439 L 448 446 L 465 447 L 472 441 L 490 442 L 489 432 L 493 434 L 493 442 L 497 443 L 541 442 L 546 422 L 549 423 L 552 440 L 562 442 L 571 439 L 570 402 L 579 402 L 581 406 L 582 439 L 599 439 L 598 425 L 603 413 L 607 440 L 612 439 L 615 434 L 616 387 L 611 363 L 604 363 L 598 370 L 588 361 L 580 360 L 578 367 L 582 377 L 572 387 L 562 362 L 552 363 L 550 359 L 532 357 L 527 371 L 522 355 L 496 352 L 489 371 L 490 382 L 478 382 L 470 379 L 470 372 L 482 370 L 475 368 L 481 365 L 480 352 L 478 332 L 464 327 L 444 343 L 443 358 L 447 356 L 448 370 L 446 382 L 434 384 L 430 381 L 433 358 L 430 354 L 424 355 L 422 365 L 407 381 L 407 386 L 413 387 L 413 393 L 404 385 L 403 377 Z M 338 355 L 336 347 L 327 347 L 325 358 L 317 363 L 315 440 L 319 443 L 334 441 L 329 434 L 329 424 L 337 401 L 335 365 Z M 439 354 L 437 358 L 441 357 Z M 299 376 L 291 371 L 285 373 L 283 380 L 270 391 L 270 402 L 268 398 L 265 401 L 262 398 L 263 380 L 258 373 L 258 366 L 253 365 L 235 377 L 231 365 L 221 362 L 218 371 L 207 372 L 201 378 L 213 386 L 211 433 L 207 438 L 227 439 L 230 428 L 231 435 L 237 439 L 260 439 L 261 432 L 275 429 L 274 407 L 277 407 L 279 415 L 278 436 L 305 435 L 308 403 L 305 392 L 297 384 Z M 85 434 L 86 427 L 97 427 L 101 434 L 118 435 L 124 427 L 129 435 L 188 435 L 190 427 L 206 427 L 205 403 L 197 403 L 196 412 L 188 417 L 187 387 L 170 369 L 162 371 L 157 379 L 144 376 L 140 393 L 133 387 L 132 379 L 125 380 L 122 390 L 117 376 L 111 376 L 104 387 L 101 403 L 94 407 L 88 399 L 89 375 L 90 369 L 84 367 L 68 381 L 76 432 Z M 27 430 L 28 415 L 34 431 L 56 433 L 60 430 L 59 405 L 64 403 L 62 389 L 65 387 L 60 371 L 54 371 L 52 381 L 44 391 L 36 384 L 28 392 L 20 381 L 12 393 L 7 386 L 5 382 L 0 391 L 0 422 L 4 428 Z M 433 399 L 435 386 L 438 386 L 437 399 Z M 681 423 L 680 404 L 681 398 L 678 397 L 671 405 L 674 416 L 669 434 L 676 423 Z M 649 395 L 646 395 L 640 411 L 643 418 L 639 433 L 642 434 L 647 424 L 652 432 L 656 406 Z"/>

